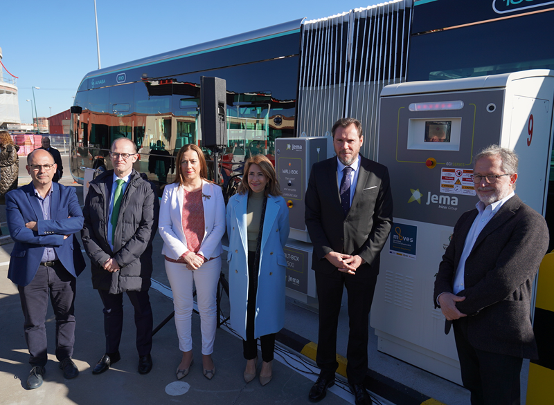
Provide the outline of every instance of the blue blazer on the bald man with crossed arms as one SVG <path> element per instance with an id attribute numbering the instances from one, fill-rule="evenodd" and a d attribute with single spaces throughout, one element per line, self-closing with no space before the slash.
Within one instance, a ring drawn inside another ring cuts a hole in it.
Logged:
<path id="1" fill-rule="evenodd" d="M 6 194 L 8 229 L 15 241 L 8 279 L 17 285 L 25 286 L 33 281 L 44 247 L 54 248 L 57 258 L 72 276 L 76 277 L 84 270 L 81 247 L 74 235 L 83 224 L 75 189 L 53 182 L 50 211 L 52 219 L 44 220 L 32 183 Z M 37 221 L 38 231 L 25 227 L 30 221 Z M 64 235 L 71 236 L 64 239 Z"/>

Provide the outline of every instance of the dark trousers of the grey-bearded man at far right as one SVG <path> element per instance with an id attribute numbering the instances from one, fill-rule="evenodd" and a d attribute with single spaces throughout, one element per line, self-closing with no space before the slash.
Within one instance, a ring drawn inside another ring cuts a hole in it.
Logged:
<path id="1" fill-rule="evenodd" d="M 472 405 L 519 405 L 523 359 L 471 346 L 465 318 L 454 321 L 453 326 L 462 382 L 470 390 Z"/>

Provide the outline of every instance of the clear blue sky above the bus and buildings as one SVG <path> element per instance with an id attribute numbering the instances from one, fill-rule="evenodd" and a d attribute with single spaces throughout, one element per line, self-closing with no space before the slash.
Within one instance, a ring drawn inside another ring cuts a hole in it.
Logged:
<path id="1" fill-rule="evenodd" d="M 375 0 L 96 0 L 102 68 L 286 21 L 318 19 Z M 93 0 L 3 4 L 2 62 L 17 79 L 21 122 L 73 104 L 82 77 L 98 68 Z M 3 70 L 8 77 L 6 70 Z M 51 107 L 51 109 L 50 109 Z"/>

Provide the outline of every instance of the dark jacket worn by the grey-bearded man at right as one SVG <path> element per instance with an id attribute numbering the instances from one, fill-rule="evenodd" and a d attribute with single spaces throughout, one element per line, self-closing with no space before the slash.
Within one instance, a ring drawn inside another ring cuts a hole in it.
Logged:
<path id="1" fill-rule="evenodd" d="M 436 276 L 435 305 L 439 294 L 452 292 L 465 238 L 477 214 L 477 209 L 465 212 L 454 227 Z M 464 321 L 474 348 L 537 357 L 530 300 L 533 279 L 547 248 L 546 221 L 518 196 L 506 201 L 485 225 L 465 262 L 465 290 L 458 292 L 465 301 L 456 303 L 467 314 Z"/>

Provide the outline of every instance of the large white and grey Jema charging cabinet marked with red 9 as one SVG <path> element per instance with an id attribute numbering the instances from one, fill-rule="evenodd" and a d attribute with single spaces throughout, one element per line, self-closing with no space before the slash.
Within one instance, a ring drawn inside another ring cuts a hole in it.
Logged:
<path id="1" fill-rule="evenodd" d="M 391 176 L 394 224 L 370 316 L 379 351 L 461 384 L 454 332 L 445 335 L 434 308 L 435 274 L 456 221 L 479 201 L 470 176 L 488 145 L 517 152 L 516 192 L 544 215 L 553 99 L 553 70 L 382 90 L 377 160 Z"/>

